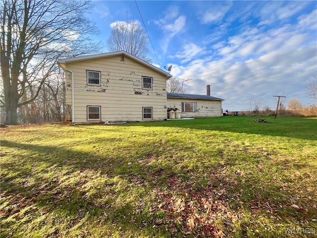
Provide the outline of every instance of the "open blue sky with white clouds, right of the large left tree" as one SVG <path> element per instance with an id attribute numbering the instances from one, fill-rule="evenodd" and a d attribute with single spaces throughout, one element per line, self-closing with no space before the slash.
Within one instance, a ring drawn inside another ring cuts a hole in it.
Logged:
<path id="1" fill-rule="evenodd" d="M 108 39 L 110 24 L 136 20 L 135 1 L 92 1 L 89 18 Z M 223 109 L 250 109 L 252 99 L 274 109 L 283 95 L 316 104 L 306 84 L 317 76 L 316 1 L 137 1 L 155 53 L 153 64 L 173 65 L 186 93 L 225 99 Z"/>

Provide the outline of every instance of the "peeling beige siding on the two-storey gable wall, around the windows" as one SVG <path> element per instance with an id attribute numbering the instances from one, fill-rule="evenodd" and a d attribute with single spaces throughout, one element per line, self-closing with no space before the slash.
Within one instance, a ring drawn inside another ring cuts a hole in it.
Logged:
<path id="1" fill-rule="evenodd" d="M 166 76 L 121 56 L 67 63 L 74 72 L 75 122 L 87 121 L 87 106 L 101 106 L 104 121 L 142 121 L 142 108 L 153 108 L 153 119 L 166 119 Z M 101 72 L 101 85 L 87 85 L 87 70 Z M 142 76 L 153 78 L 153 89 L 142 89 Z M 66 100 L 71 104 L 71 74 L 66 72 Z"/>

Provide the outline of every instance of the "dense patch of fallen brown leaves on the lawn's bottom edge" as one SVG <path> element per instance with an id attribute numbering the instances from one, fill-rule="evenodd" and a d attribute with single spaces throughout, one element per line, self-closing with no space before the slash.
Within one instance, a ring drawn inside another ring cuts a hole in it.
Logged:
<path id="1" fill-rule="evenodd" d="M 225 187 L 194 189 L 190 181 L 184 182 L 177 175 L 167 179 L 167 186 L 164 190 L 152 190 L 157 202 L 152 204 L 151 211 L 165 214 L 153 223 L 163 225 L 171 233 L 222 238 L 225 237 L 223 228 L 233 229 L 231 224 L 240 219 L 240 214 L 230 209 Z"/>

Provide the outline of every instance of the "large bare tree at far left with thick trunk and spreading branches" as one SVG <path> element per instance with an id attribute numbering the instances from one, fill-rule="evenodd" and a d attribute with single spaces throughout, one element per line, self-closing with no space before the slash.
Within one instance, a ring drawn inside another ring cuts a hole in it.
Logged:
<path id="1" fill-rule="evenodd" d="M 7 124 L 16 124 L 17 108 L 39 96 L 58 58 L 99 49 L 86 36 L 98 32 L 84 17 L 91 8 L 89 2 L 76 0 L 1 0 L 0 67 Z"/>

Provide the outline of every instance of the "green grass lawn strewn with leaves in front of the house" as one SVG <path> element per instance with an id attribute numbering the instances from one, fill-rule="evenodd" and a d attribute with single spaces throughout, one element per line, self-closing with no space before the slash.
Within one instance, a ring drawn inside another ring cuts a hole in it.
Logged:
<path id="1" fill-rule="evenodd" d="M 254 119 L 1 128 L 1 238 L 316 237 L 317 119 Z"/>

